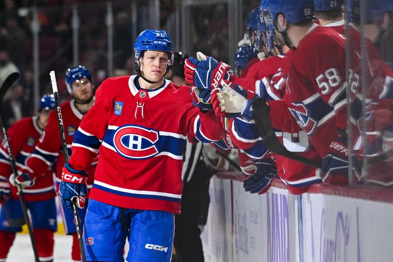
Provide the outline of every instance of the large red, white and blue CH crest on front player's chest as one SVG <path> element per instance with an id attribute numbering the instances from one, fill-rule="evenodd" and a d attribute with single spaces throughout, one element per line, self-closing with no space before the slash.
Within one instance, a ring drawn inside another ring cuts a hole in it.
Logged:
<path id="1" fill-rule="evenodd" d="M 158 132 L 141 126 L 127 125 L 116 130 L 113 144 L 116 151 L 125 158 L 143 159 L 156 155 Z"/>

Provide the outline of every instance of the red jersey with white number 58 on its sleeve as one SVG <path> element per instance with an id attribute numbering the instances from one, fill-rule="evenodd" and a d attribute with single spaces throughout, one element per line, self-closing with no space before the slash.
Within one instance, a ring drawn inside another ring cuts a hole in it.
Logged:
<path id="1" fill-rule="evenodd" d="M 336 115 L 346 105 L 345 72 L 345 39 L 314 24 L 293 56 L 284 101 L 270 102 L 273 126 L 282 128 L 276 115 L 287 119 L 285 128 L 291 133 L 299 131 L 299 124 L 324 157 L 337 137 L 336 128 L 346 127 L 346 119 Z"/>

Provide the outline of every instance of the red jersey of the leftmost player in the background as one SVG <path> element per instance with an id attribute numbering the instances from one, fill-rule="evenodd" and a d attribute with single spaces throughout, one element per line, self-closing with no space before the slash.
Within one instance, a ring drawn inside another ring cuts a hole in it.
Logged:
<path id="1" fill-rule="evenodd" d="M 34 150 L 42 132 L 43 130 L 37 124 L 37 116 L 22 118 L 8 129 L 7 133 L 18 169 L 26 168 L 26 158 Z M 23 189 L 26 201 L 43 201 L 55 197 L 54 172 L 51 166 L 46 166 L 42 172 L 43 176 L 37 179 L 32 187 Z M 0 174 L 7 178 L 12 174 L 5 140 L 0 147 Z M 18 199 L 17 188 L 11 186 L 11 190 L 11 197 Z"/>

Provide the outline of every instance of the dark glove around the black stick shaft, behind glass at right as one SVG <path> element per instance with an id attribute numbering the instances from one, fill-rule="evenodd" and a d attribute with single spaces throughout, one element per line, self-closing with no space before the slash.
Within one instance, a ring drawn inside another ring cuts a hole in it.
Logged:
<path id="1" fill-rule="evenodd" d="M 360 179 L 361 163 L 353 156 L 353 171 Z M 337 137 L 329 146 L 329 153 L 322 159 L 321 168 L 316 170 L 316 176 L 322 182 L 332 184 L 348 184 L 348 149 L 347 140 Z"/>

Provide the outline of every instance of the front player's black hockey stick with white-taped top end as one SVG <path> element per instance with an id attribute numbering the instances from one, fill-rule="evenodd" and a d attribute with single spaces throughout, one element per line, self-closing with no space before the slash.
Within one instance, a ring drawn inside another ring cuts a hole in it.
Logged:
<path id="1" fill-rule="evenodd" d="M 64 161 L 65 161 L 65 163 L 68 163 L 68 161 L 70 160 L 70 157 L 68 156 L 67 142 L 65 141 L 63 117 L 61 115 L 60 99 L 58 98 L 55 71 L 51 71 L 51 73 L 49 75 L 51 76 L 53 95 L 55 96 L 57 120 L 58 120 L 58 126 L 60 128 L 61 148 L 63 150 Z M 79 242 L 79 248 L 81 249 L 82 262 L 86 262 L 86 253 L 84 252 L 84 243 L 83 243 L 83 237 L 82 237 L 81 223 L 79 222 L 77 201 L 78 200 L 76 198 L 74 199 L 74 201 L 72 201 L 72 210 L 73 210 L 74 217 L 75 217 L 75 226 L 77 228 L 78 242 Z"/>

